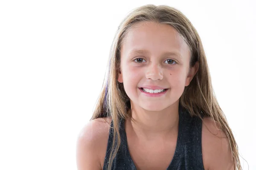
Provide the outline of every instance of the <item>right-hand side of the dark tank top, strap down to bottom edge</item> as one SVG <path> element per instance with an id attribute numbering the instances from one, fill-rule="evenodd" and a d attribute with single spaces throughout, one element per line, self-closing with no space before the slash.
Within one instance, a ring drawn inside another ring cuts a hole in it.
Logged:
<path id="1" fill-rule="evenodd" d="M 180 147 L 176 147 L 175 152 L 181 154 L 173 157 L 167 170 L 188 170 L 192 167 L 192 169 L 204 170 L 201 142 L 202 121 L 198 116 L 191 116 L 189 111 L 181 106 L 179 116 L 180 136 L 178 136 L 177 142 L 180 142 Z"/>

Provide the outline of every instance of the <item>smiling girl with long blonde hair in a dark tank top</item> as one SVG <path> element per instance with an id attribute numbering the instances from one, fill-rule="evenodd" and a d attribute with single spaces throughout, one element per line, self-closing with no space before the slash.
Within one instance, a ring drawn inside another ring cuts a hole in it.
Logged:
<path id="1" fill-rule="evenodd" d="M 134 9 L 77 142 L 78 170 L 241 169 L 198 32 L 177 9 Z"/>

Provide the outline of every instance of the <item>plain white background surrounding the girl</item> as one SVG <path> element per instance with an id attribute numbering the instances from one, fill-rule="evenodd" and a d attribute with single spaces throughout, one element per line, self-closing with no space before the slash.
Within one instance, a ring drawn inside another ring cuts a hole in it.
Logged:
<path id="1" fill-rule="evenodd" d="M 253 0 L 2 0 L 1 170 L 76 169 L 77 135 L 102 88 L 115 31 L 148 3 L 179 9 L 197 29 L 240 155 L 256 170 Z"/>

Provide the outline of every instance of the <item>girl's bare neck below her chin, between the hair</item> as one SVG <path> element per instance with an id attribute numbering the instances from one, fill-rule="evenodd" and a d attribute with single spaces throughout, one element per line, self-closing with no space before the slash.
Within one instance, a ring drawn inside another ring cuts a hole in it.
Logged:
<path id="1" fill-rule="evenodd" d="M 138 138 L 145 140 L 164 139 L 176 135 L 179 125 L 179 100 L 162 111 L 146 111 L 131 102 L 131 119 L 128 126 Z"/>

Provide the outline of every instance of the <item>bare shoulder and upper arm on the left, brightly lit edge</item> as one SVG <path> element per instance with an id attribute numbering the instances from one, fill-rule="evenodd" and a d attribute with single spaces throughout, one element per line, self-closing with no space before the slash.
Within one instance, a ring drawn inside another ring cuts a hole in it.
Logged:
<path id="1" fill-rule="evenodd" d="M 111 118 L 97 118 L 81 129 L 76 142 L 78 170 L 102 170 L 110 124 Z"/>

